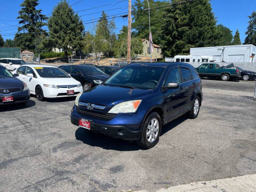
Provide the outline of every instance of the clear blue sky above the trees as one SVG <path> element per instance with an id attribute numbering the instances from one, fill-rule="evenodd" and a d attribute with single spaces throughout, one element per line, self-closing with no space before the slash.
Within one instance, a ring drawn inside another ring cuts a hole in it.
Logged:
<path id="1" fill-rule="evenodd" d="M 18 25 L 18 11 L 20 10 L 20 4 L 23 0 L 1 0 L 0 7 L 0 34 L 4 39 L 13 39 L 14 34 L 17 33 Z M 39 0 L 38 9 L 42 9 L 43 14 L 50 16 L 53 11 L 53 7 L 57 5 L 59 0 Z M 132 0 L 134 2 L 134 0 Z M 78 15 L 81 15 L 84 23 L 91 22 L 88 20 L 98 19 L 102 10 L 108 10 L 108 15 L 114 15 L 118 13 L 124 13 L 128 11 L 127 0 L 69 0 L 74 11 L 79 11 Z M 228 27 L 233 31 L 233 35 L 236 30 L 239 30 L 242 43 L 246 37 L 245 32 L 248 26 L 248 16 L 255 10 L 255 0 L 211 0 L 212 11 L 217 18 L 218 24 Z M 100 6 L 100 7 L 98 7 Z M 98 8 L 94 8 L 98 7 Z M 85 11 L 83 11 L 85 10 Z M 99 12 L 99 13 L 95 13 Z M 93 14 L 92 14 L 93 13 Z M 93 20 L 95 21 L 95 20 Z M 116 21 L 116 33 L 122 29 L 123 25 L 127 25 L 127 18 L 115 18 Z M 94 23 L 88 23 L 85 25 L 85 30 L 94 31 Z"/>

